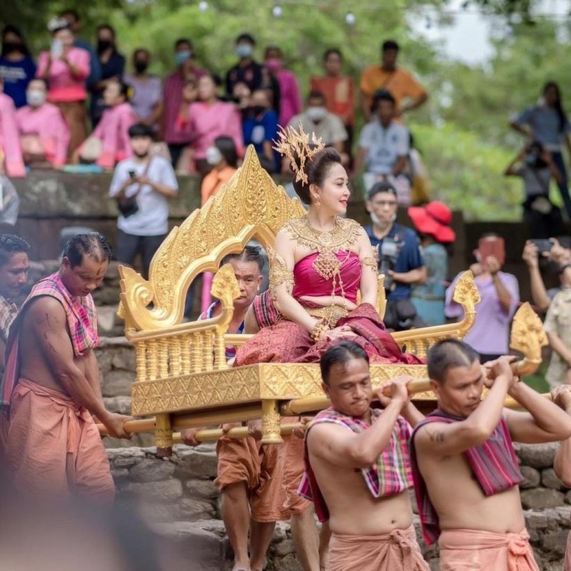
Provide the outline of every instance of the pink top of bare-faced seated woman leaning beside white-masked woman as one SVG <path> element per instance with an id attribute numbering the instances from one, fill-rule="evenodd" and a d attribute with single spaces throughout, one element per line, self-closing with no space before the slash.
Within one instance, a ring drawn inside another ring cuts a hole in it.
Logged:
<path id="1" fill-rule="evenodd" d="M 101 139 L 102 152 L 97 164 L 104 169 L 113 169 L 115 164 L 133 155 L 129 139 L 129 127 L 139 118 L 128 103 L 109 107 L 92 133 Z"/>

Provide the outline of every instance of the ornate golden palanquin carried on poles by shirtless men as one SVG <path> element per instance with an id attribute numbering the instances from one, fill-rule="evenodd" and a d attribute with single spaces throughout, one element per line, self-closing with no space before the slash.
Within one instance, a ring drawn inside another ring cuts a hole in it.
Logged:
<path id="1" fill-rule="evenodd" d="M 173 430 L 260 418 L 263 443 L 279 443 L 280 412 L 291 414 L 292 399 L 322 393 L 318 364 L 232 368 L 225 359 L 226 345 L 240 345 L 250 336 L 227 334 L 233 299 L 240 292 L 232 267 L 219 267 L 220 261 L 228 253 L 240 252 L 252 239 L 267 249 L 279 228 L 304 212 L 297 198 L 289 198 L 262 169 L 250 147 L 228 184 L 171 230 L 152 260 L 148 281 L 133 269 L 120 267 L 120 312 L 125 334 L 136 350 L 132 413 L 156 415 L 157 448 L 169 451 Z M 202 272 L 216 272 L 212 295 L 220 300 L 221 313 L 183 322 L 187 290 Z M 384 313 L 384 290 L 380 290 L 377 309 Z M 454 299 L 464 308 L 462 322 L 393 337 L 419 357 L 441 339 L 462 338 L 474 322 L 479 301 L 470 272 L 460 279 Z M 403 374 L 422 378 L 427 372 L 420 365 L 371 366 L 375 384 Z M 432 393 L 416 398 L 432 398 Z"/>

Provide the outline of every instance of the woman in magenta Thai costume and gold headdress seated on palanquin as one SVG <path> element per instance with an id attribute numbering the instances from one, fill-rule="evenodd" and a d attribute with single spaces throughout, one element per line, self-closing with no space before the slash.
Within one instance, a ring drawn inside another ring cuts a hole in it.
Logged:
<path id="1" fill-rule="evenodd" d="M 373 363 L 421 363 L 400 350 L 375 311 L 377 260 L 365 230 L 342 218 L 350 191 L 339 153 L 292 129 L 281 133 L 276 150 L 290 159 L 295 191 L 309 208 L 279 230 L 269 251 L 279 320 L 240 347 L 235 365 L 317 362 L 332 341 L 347 338 Z"/>

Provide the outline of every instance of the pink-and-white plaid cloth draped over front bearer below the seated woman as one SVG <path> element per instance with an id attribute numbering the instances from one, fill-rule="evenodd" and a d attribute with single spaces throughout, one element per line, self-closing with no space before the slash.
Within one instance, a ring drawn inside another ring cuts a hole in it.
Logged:
<path id="1" fill-rule="evenodd" d="M 382 415 L 382 411 L 379 409 L 371 409 L 370 414 L 371 421 L 374 422 Z M 329 519 L 329 510 L 327 509 L 327 504 L 320 492 L 315 474 L 309 463 L 307 450 L 307 435 L 309 431 L 313 426 L 321 423 L 338 424 L 352 430 L 352 432 L 356 434 L 365 432 L 365 430 L 370 428 L 370 425 L 352 416 L 346 416 L 331 407 L 316 415 L 306 430 L 304 455 L 306 473 L 301 485 L 299 485 L 299 494 L 307 499 L 313 500 L 313 503 L 315 503 L 315 513 L 317 513 L 320 521 L 324 522 Z M 391 440 L 382 451 L 377 463 L 368 468 L 361 469 L 361 474 L 363 474 L 365 483 L 373 497 L 394 496 L 412 487 L 412 471 L 407 451 L 407 442 L 410 435 L 411 428 L 409 423 L 399 416 L 393 428 Z"/>

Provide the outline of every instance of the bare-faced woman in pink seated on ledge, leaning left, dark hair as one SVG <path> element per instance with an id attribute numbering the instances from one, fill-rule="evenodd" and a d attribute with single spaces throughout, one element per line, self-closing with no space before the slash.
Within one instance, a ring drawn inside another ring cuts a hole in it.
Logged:
<path id="1" fill-rule="evenodd" d="M 101 141 L 101 152 L 96 162 L 103 169 L 114 169 L 116 163 L 132 156 L 129 127 L 139 121 L 129 104 L 132 88 L 123 81 L 110 81 L 103 92 L 107 109 L 90 136 Z M 84 145 L 74 156 L 74 162 L 82 157 Z"/>

